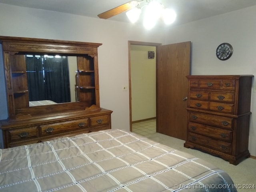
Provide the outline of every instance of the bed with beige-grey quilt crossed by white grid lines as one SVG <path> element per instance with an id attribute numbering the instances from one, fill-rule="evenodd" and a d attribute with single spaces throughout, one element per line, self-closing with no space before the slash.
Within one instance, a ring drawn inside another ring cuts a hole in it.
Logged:
<path id="1" fill-rule="evenodd" d="M 236 192 L 233 186 L 216 166 L 119 129 L 0 149 L 4 192 Z"/>

